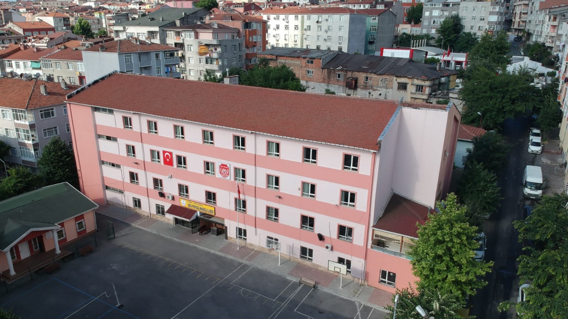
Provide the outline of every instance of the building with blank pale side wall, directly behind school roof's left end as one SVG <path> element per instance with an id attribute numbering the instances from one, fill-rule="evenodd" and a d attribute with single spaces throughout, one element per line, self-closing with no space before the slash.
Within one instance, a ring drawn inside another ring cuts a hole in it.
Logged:
<path id="1" fill-rule="evenodd" d="M 179 78 L 179 50 L 168 45 L 153 44 L 139 39 L 115 40 L 94 45 L 81 51 L 89 83 L 120 71 Z"/>

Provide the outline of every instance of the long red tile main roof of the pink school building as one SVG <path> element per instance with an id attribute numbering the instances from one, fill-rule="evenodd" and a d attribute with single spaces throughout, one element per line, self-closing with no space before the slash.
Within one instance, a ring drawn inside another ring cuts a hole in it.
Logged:
<path id="1" fill-rule="evenodd" d="M 124 87 L 138 90 L 131 94 Z M 123 73 L 69 102 L 367 150 L 379 149 L 378 138 L 398 107 L 394 100 Z"/>

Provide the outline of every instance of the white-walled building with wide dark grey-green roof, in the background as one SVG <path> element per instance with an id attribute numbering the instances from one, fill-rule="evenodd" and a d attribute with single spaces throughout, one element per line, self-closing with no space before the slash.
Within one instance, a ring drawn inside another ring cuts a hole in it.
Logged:
<path id="1" fill-rule="evenodd" d="M 181 9 L 163 7 L 160 10 L 149 13 L 143 18 L 130 20 L 122 24 L 115 24 L 112 29 L 114 30 L 115 39 L 137 37 L 141 40 L 151 41 L 152 43 L 166 44 L 166 32 L 164 28 L 198 23 L 208 13 L 207 10 L 201 8 Z"/>

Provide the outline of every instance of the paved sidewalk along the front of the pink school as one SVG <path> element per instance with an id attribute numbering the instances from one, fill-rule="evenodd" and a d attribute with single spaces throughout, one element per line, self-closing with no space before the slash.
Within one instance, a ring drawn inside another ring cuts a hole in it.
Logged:
<path id="1" fill-rule="evenodd" d="M 241 245 L 237 249 L 235 242 L 227 241 L 223 236 L 191 234 L 191 229 L 172 225 L 165 221 L 111 205 L 99 207 L 97 213 L 111 219 L 123 221 L 135 228 L 143 229 L 183 244 L 199 247 L 212 254 L 222 255 L 247 265 L 270 271 L 275 275 L 283 276 L 295 282 L 298 282 L 301 276 L 314 279 L 318 283 L 318 289 L 374 307 L 383 312 L 385 312 L 384 307 L 386 305 L 392 305 L 392 293 L 390 292 L 360 285 L 358 281 L 354 282 L 346 278 L 343 278 L 343 288 L 341 288 L 339 276 L 291 261 L 287 259 L 285 254 L 282 254 L 281 265 L 278 266 L 278 253 L 256 250 L 254 249 L 256 246 Z"/>

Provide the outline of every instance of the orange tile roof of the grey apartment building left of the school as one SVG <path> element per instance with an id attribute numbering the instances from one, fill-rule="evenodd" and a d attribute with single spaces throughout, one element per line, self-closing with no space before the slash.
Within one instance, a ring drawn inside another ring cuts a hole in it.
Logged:
<path id="1" fill-rule="evenodd" d="M 40 85 L 47 86 L 48 95 L 41 94 Z M 65 95 L 78 89 L 79 86 L 69 85 L 65 90 L 57 82 L 45 82 L 39 79 L 23 80 L 0 78 L 0 107 L 31 108 L 52 106 L 65 103 Z"/>

